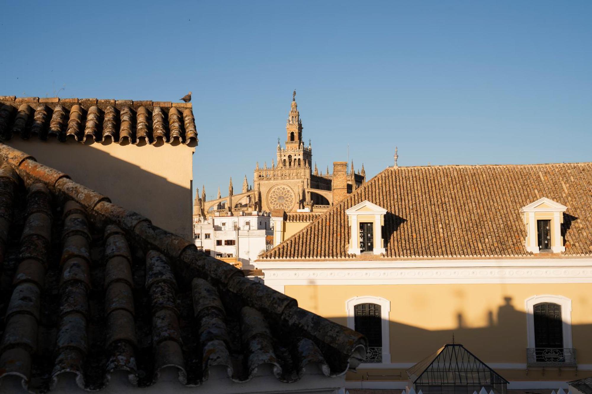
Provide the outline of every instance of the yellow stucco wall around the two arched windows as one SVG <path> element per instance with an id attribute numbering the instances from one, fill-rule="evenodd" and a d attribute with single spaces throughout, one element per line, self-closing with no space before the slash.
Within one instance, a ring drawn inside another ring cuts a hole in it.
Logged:
<path id="1" fill-rule="evenodd" d="M 301 308 L 346 325 L 346 301 L 377 296 L 390 305 L 391 363 L 416 363 L 443 344 L 462 343 L 485 363 L 526 363 L 525 300 L 561 295 L 572 300 L 572 338 L 578 364 L 592 363 L 592 283 L 475 285 L 287 285 L 285 293 Z M 404 370 L 391 370 L 392 374 Z M 360 373 L 367 373 L 361 370 Z M 391 374 L 388 372 L 388 374 Z M 358 374 L 349 379 L 359 380 Z M 385 374 L 385 370 L 380 372 Z M 501 370 L 500 370 L 501 373 Z M 545 380 L 554 380 L 547 370 Z M 539 372 L 509 370 L 506 379 L 540 380 Z M 559 380 L 576 379 L 564 370 Z M 391 377 L 386 380 L 406 380 Z"/>

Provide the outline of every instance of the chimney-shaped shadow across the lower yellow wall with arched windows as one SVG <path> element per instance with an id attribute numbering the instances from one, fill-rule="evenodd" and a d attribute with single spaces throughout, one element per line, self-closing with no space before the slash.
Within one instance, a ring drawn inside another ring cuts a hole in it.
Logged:
<path id="1" fill-rule="evenodd" d="M 592 376 L 592 371 L 578 371 L 573 365 L 561 367 L 549 364 L 545 367 L 530 363 L 532 358 L 530 360 L 527 358 L 527 318 L 533 319 L 533 315 L 517 310 L 514 306 L 515 300 L 511 296 L 503 296 L 502 300 L 496 309 L 481 311 L 485 323 L 478 327 L 468 324 L 462 312 L 452 312 L 452 321 L 456 322 L 456 327 L 442 330 L 429 330 L 406 322 L 389 321 L 391 360 L 383 362 L 391 364 L 392 367 L 381 366 L 372 369 L 372 364 L 363 364 L 356 372 L 348 373 L 348 380 L 399 382 L 398 386 L 401 386 L 402 382 L 408 379 L 407 369 L 430 356 L 443 345 L 451 343 L 464 345 L 510 382 L 512 380 L 554 382 L 552 383 L 554 386 L 549 389 L 529 389 L 520 393 L 549 394 L 552 389 L 567 388 L 566 382 L 570 380 Z M 403 301 L 399 300 L 399 302 Z M 391 307 L 390 313 L 396 318 L 396 308 Z M 434 316 L 436 319 L 438 314 Z M 347 317 L 330 319 L 347 325 Z M 592 353 L 588 346 L 591 332 L 592 324 L 571 325 L 572 347 L 575 348 L 577 364 L 589 365 L 592 361 Z M 564 347 L 567 348 L 568 345 L 564 344 Z M 511 393 L 512 385 L 510 384 L 508 388 Z"/>

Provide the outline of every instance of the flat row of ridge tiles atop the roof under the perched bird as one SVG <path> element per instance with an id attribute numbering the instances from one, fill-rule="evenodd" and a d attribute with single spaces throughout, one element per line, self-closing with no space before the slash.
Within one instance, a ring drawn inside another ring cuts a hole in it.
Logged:
<path id="1" fill-rule="evenodd" d="M 98 98 L 60 98 L 60 97 L 17 97 L 17 96 L 0 96 L 0 101 L 15 102 L 16 104 L 28 104 L 30 102 L 38 102 L 41 104 L 47 103 L 63 103 L 63 104 L 81 104 L 81 105 L 132 105 L 134 108 L 140 106 L 161 106 L 164 108 L 193 108 L 190 102 L 172 102 L 172 101 L 153 101 L 153 100 L 117 100 L 117 99 L 98 99 Z"/>

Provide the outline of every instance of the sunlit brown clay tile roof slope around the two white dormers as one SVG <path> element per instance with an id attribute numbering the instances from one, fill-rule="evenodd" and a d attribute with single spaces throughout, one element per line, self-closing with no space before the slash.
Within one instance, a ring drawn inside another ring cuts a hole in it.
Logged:
<path id="1" fill-rule="evenodd" d="M 592 255 L 592 163 L 569 163 L 390 167 L 262 259 L 367 259 L 345 212 L 365 200 L 387 209 L 384 258 L 532 257 L 519 211 L 543 196 L 568 207 L 561 256 Z"/>

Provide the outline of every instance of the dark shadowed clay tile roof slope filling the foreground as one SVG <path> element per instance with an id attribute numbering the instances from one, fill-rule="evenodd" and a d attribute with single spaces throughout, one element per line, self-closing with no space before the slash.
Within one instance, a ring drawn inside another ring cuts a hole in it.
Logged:
<path id="1" fill-rule="evenodd" d="M 340 376 L 365 357 L 358 332 L 4 144 L 0 261 L 3 390 L 15 378 L 101 390 L 113 373 L 146 387 L 165 368 L 187 386 L 213 367 L 234 384 L 263 364 L 294 382 L 309 364 Z"/>

